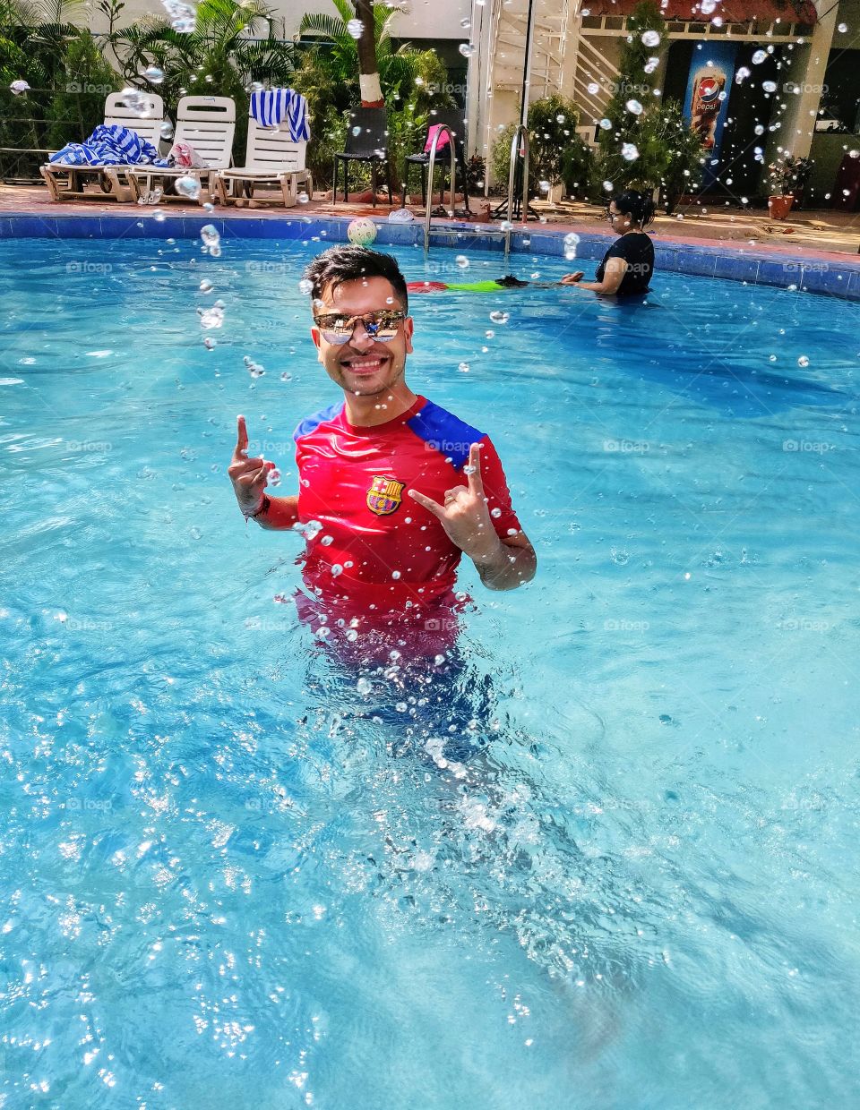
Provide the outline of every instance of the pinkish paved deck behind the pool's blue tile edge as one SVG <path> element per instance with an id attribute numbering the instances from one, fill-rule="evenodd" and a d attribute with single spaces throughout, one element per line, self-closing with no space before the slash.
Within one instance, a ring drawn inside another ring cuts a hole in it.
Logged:
<path id="1" fill-rule="evenodd" d="M 480 200 L 483 200 L 482 198 Z M 181 201 L 169 201 L 160 205 L 167 214 L 176 215 L 203 215 L 204 212 L 198 204 Z M 394 209 L 399 204 L 393 205 Z M 474 204 L 473 206 L 477 206 Z M 143 206 L 141 206 L 143 208 Z M 556 234 L 567 234 L 576 232 L 578 234 L 589 233 L 606 235 L 607 242 L 611 240 L 602 211 L 596 205 L 579 202 L 564 203 L 560 209 L 553 209 L 548 204 L 536 205 L 539 214 L 546 222 L 531 220 L 528 224 L 516 224 L 517 231 L 539 231 L 552 232 Z M 51 201 L 48 190 L 39 185 L 0 185 L 0 214 L 20 213 L 27 215 L 129 215 L 131 212 L 140 211 L 137 205 L 120 203 L 109 200 L 97 193 L 92 199 L 79 199 L 73 201 Z M 151 213 L 152 209 L 143 208 L 143 211 Z M 387 203 L 378 203 L 373 208 L 370 203 L 356 203 L 350 201 L 344 203 L 339 201 L 332 203 L 330 199 L 317 199 L 303 205 L 284 209 L 282 205 L 268 202 L 254 204 L 254 206 L 236 208 L 229 205 L 224 208 L 219 204 L 216 214 L 224 220 L 243 219 L 283 219 L 296 216 L 370 216 L 377 220 L 387 220 L 392 209 Z M 423 221 L 423 211 L 412 209 L 416 222 L 420 225 Z M 687 244 L 691 248 L 720 246 L 723 251 L 738 252 L 739 254 L 790 254 L 794 258 L 802 256 L 810 260 L 827 261 L 830 263 L 857 262 L 860 259 L 860 212 L 839 212 L 833 210 L 800 211 L 792 213 L 793 219 L 784 222 L 770 220 L 764 212 L 751 212 L 749 210 L 721 210 L 712 209 L 702 213 L 698 208 L 683 210 L 682 219 L 667 215 L 658 215 L 648 229 L 649 234 L 656 243 Z M 449 221 L 433 218 L 433 226 L 443 226 Z M 473 226 L 492 226 L 498 231 L 499 223 L 481 224 L 474 222 Z"/>

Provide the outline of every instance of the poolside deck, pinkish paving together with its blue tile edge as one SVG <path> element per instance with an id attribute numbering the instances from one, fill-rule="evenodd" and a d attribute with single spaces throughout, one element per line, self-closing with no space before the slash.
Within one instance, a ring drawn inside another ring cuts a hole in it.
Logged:
<path id="1" fill-rule="evenodd" d="M 396 208 L 399 205 L 396 205 Z M 477 206 L 474 204 L 473 206 Z M 284 209 L 272 204 L 253 208 L 218 205 L 207 213 L 200 205 L 171 201 L 159 206 L 166 219 L 151 218 L 149 205 L 118 203 L 94 194 L 92 200 L 53 202 L 39 185 L 0 185 L 0 238 L 129 238 L 196 235 L 202 222 L 213 222 L 222 234 L 264 239 L 346 238 L 344 221 L 370 216 L 380 224 L 378 242 L 423 243 L 423 213 L 416 220 L 391 224 L 388 204 L 332 204 L 316 199 Z M 578 260 L 602 256 L 612 236 L 600 209 L 591 204 L 538 203 L 541 219 L 514 224 L 511 252 L 561 256 L 563 236 L 580 236 Z M 658 215 L 649 228 L 658 269 L 737 281 L 797 287 L 860 300 L 860 213 L 834 210 L 800 211 L 787 221 L 769 220 L 763 212 L 728 208 L 682 209 L 676 216 Z M 434 218 L 433 248 L 478 246 L 502 250 L 499 223 Z M 444 263 L 440 271 L 448 270 Z M 453 271 L 456 268 L 450 266 Z"/>

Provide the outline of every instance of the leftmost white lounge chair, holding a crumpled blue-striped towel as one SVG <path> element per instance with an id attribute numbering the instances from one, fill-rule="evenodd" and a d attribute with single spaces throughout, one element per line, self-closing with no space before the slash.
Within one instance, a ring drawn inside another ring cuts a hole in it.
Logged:
<path id="1" fill-rule="evenodd" d="M 111 92 L 104 101 L 104 124 L 118 124 L 136 131 L 158 150 L 164 124 L 164 101 L 157 92 L 141 92 L 139 98 L 134 98 L 132 105 L 121 92 Z M 129 169 L 131 167 L 127 165 L 63 165 L 62 162 L 47 162 L 40 167 L 40 173 L 53 201 L 74 200 L 79 196 L 92 199 L 96 194 L 88 193 L 84 188 L 86 174 L 91 175 L 103 194 L 126 201 L 132 196 L 127 173 Z M 123 176 L 124 182 L 120 180 Z"/>

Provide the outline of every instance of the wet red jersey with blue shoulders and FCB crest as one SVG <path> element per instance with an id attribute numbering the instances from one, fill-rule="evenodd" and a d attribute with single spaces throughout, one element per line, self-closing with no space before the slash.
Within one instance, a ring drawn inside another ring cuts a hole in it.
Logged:
<path id="1" fill-rule="evenodd" d="M 293 437 L 304 581 L 318 596 L 384 610 L 449 595 L 462 552 L 407 494 L 417 490 L 443 504 L 446 490 L 468 482 L 472 443 L 482 445 L 481 477 L 497 534 L 521 531 L 489 436 L 426 397 L 372 427 L 350 424 L 341 402 L 303 420 Z"/>

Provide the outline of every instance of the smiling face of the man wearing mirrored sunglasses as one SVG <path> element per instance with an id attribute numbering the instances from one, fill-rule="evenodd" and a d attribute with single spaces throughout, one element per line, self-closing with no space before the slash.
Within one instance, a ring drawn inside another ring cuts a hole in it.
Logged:
<path id="1" fill-rule="evenodd" d="M 320 303 L 321 302 L 321 303 Z M 327 286 L 314 302 L 314 316 L 342 313 L 357 316 L 366 312 L 403 310 L 390 282 L 384 278 L 359 278 Z M 362 397 L 389 394 L 402 382 L 406 356 L 412 353 L 412 319 L 407 316 L 397 335 L 388 342 L 371 339 L 362 323 L 357 323 L 346 343 L 329 343 L 314 324 L 311 335 L 319 361 L 329 377 L 347 393 Z"/>

